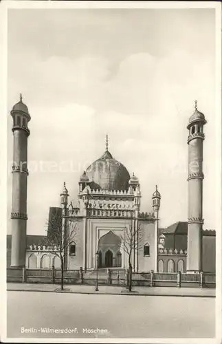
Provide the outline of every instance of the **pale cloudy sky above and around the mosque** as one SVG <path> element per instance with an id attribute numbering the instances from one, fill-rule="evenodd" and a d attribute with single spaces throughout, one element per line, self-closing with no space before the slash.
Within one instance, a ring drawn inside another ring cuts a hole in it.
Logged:
<path id="1" fill-rule="evenodd" d="M 188 130 L 197 100 L 203 142 L 204 228 L 216 228 L 213 9 L 12 10 L 8 12 L 8 233 L 12 118 L 30 111 L 27 234 L 45 234 L 49 206 L 105 150 L 139 178 L 141 211 L 158 185 L 160 226 L 188 219 Z"/>

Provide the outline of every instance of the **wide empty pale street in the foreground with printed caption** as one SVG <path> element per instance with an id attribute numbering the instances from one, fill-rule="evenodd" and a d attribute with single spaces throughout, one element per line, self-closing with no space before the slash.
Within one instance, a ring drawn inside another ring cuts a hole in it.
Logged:
<path id="1" fill-rule="evenodd" d="M 212 338 L 214 308 L 204 297 L 9 291 L 8 338 Z"/>

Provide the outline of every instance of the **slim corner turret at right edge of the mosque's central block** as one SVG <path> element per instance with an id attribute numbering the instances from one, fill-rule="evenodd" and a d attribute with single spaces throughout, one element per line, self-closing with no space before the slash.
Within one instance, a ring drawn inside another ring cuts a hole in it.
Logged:
<path id="1" fill-rule="evenodd" d="M 158 236 L 159 236 L 159 207 L 160 207 L 160 200 L 161 200 L 161 195 L 157 189 L 157 185 L 156 185 L 156 189 L 153 193 L 153 212 L 154 212 L 154 216 L 155 216 L 155 266 L 154 266 L 154 271 L 157 272 L 157 259 L 158 259 Z"/>

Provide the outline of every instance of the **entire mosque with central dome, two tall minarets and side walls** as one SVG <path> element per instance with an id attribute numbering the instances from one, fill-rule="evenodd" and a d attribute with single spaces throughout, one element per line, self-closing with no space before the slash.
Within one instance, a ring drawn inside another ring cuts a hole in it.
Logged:
<path id="1" fill-rule="evenodd" d="M 12 235 L 8 235 L 8 266 L 60 268 L 60 261 L 45 236 L 26 235 L 27 224 L 27 137 L 31 117 L 21 97 L 11 111 L 13 118 L 14 164 L 12 166 Z M 188 120 L 188 222 L 159 228 L 161 194 L 154 186 L 152 213 L 142 213 L 140 180 L 115 160 L 107 138 L 104 153 L 78 182 L 77 204 L 69 201 L 64 183 L 60 207 L 50 208 L 49 223 L 57 212 L 63 231 L 76 226 L 74 241 L 65 252 L 65 268 L 85 271 L 98 268 L 128 268 L 124 250 L 127 233 L 135 233 L 131 264 L 135 272 L 215 272 L 215 230 L 203 230 L 203 126 L 205 116 L 195 105 Z M 48 228 L 48 235 L 53 235 Z M 140 241 L 140 242 L 139 242 Z M 136 245 L 137 244 L 137 245 Z M 140 245 L 139 245 L 140 244 Z M 140 249 L 139 249 L 140 246 Z"/>

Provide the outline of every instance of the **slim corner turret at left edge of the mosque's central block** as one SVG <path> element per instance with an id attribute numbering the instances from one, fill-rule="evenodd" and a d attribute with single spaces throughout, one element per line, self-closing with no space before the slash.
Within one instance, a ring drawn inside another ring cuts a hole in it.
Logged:
<path id="1" fill-rule="evenodd" d="M 69 197 L 69 193 L 68 190 L 65 186 L 65 182 L 63 183 L 63 191 L 60 193 L 60 197 L 61 197 L 61 208 L 62 208 L 62 245 L 64 247 L 64 269 L 66 270 L 68 268 L 68 245 L 64 244 L 67 240 L 67 204 L 68 204 L 68 197 Z"/>

